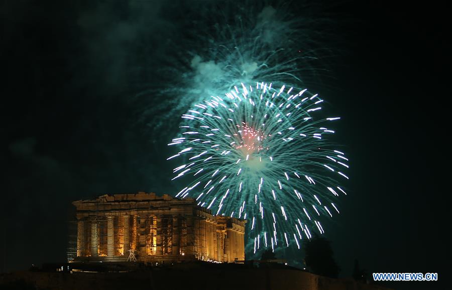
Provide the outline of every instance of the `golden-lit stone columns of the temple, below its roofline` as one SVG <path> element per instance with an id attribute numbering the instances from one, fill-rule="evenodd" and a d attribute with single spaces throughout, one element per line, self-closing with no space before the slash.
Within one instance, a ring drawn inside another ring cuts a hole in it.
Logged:
<path id="1" fill-rule="evenodd" d="M 132 242 L 132 246 L 139 250 L 139 256 L 147 255 L 147 234 L 149 234 L 149 230 L 147 227 L 150 225 L 148 222 L 143 219 L 138 228 L 136 222 L 136 216 L 132 216 L 133 219 L 133 227 L 130 226 L 130 215 L 122 215 L 123 219 L 120 223 L 122 226 L 122 245 L 121 243 L 117 245 L 118 248 L 121 248 L 120 252 L 123 255 L 128 255 L 128 251 L 130 249 L 130 245 Z M 217 222 L 211 219 L 196 219 L 193 224 L 192 217 L 186 217 L 185 221 L 185 230 L 184 233 L 186 236 L 184 237 L 184 245 L 180 248 L 180 234 L 182 233 L 182 228 L 179 226 L 178 217 L 168 217 L 170 220 L 167 220 L 165 224 L 171 221 L 171 227 L 163 228 L 162 219 L 165 218 L 162 216 L 155 216 L 157 219 L 156 222 L 156 240 L 155 240 L 155 252 L 153 254 L 157 256 L 161 256 L 164 254 L 169 255 L 179 255 L 186 254 L 190 256 L 194 254 L 193 245 L 196 245 L 195 253 L 199 258 L 202 256 L 207 259 L 217 260 L 217 261 L 226 261 L 226 262 L 234 262 L 237 258 L 239 260 L 243 260 L 244 256 L 244 233 L 236 228 L 219 228 L 217 227 Z M 98 255 L 98 245 L 103 240 L 105 241 L 105 236 L 98 236 L 99 232 L 99 224 L 96 222 L 92 222 L 90 224 L 90 230 L 85 228 L 88 223 L 83 220 L 79 220 L 78 222 L 78 240 L 77 240 L 77 256 L 97 256 Z M 104 230 L 105 224 L 101 225 L 102 230 Z M 193 228 L 194 225 L 194 228 Z M 118 225 L 118 228 L 120 226 Z M 88 240 L 85 234 L 90 232 L 90 245 L 88 245 Z M 104 232 L 104 231 L 103 231 Z M 105 233 L 105 232 L 104 232 Z M 132 233 L 132 235 L 131 235 Z M 169 236 L 168 236 L 169 234 Z M 134 237 L 135 235 L 135 237 Z M 164 235 L 167 236 L 166 246 L 168 247 L 165 251 L 163 248 L 163 238 Z M 118 235 L 119 236 L 119 235 Z M 137 239 L 140 237 L 140 239 Z M 132 239 L 132 240 L 131 240 Z M 117 243 L 120 241 L 116 241 Z M 152 240 L 154 247 L 154 240 Z M 107 256 L 115 256 L 115 223 L 114 216 L 107 216 L 106 220 L 106 250 L 104 247 L 104 243 L 102 243 L 103 253 Z M 90 247 L 87 249 L 87 247 Z"/>

